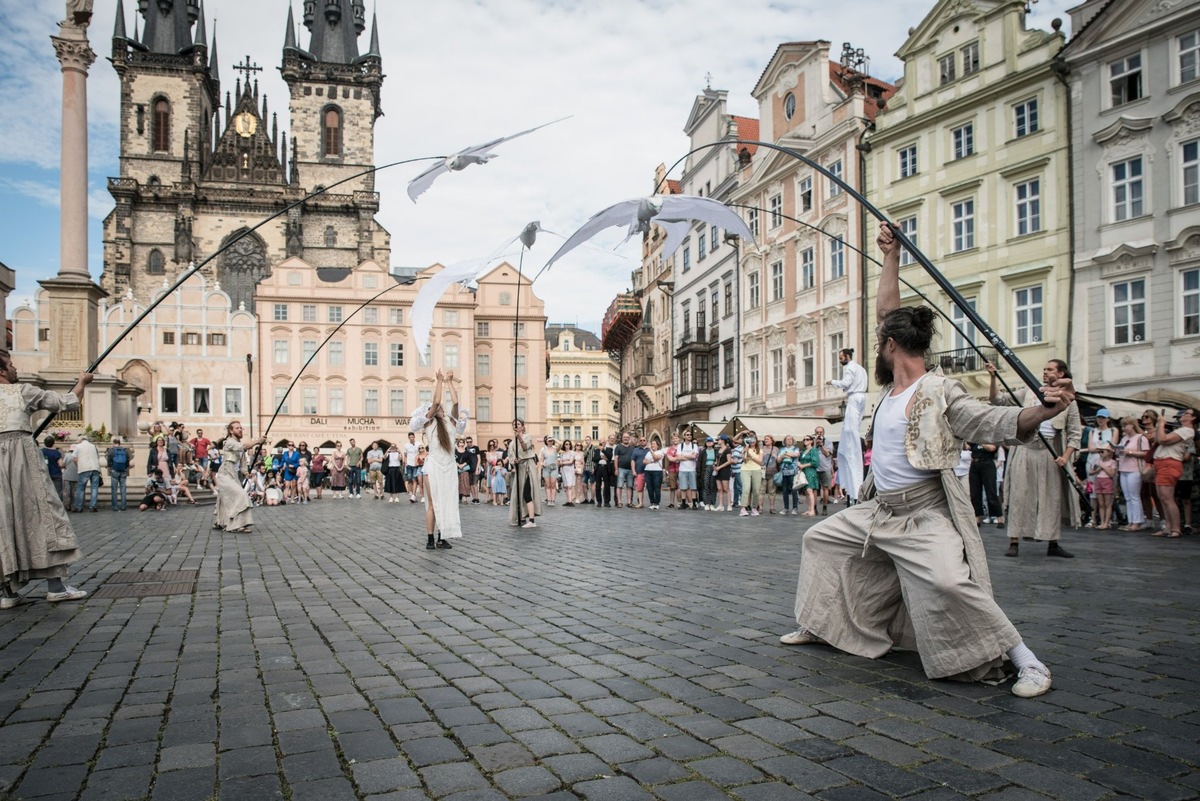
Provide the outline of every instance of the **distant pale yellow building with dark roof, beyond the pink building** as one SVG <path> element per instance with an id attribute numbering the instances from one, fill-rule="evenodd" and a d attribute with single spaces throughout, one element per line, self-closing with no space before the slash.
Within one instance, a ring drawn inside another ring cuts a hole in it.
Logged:
<path id="1" fill-rule="evenodd" d="M 556 440 L 599 439 L 620 427 L 620 366 L 590 331 L 546 326 L 546 428 Z"/>

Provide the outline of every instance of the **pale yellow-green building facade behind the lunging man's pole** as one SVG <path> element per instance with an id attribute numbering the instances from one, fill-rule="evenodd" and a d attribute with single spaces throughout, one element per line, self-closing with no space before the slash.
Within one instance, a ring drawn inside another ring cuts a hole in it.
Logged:
<path id="1" fill-rule="evenodd" d="M 912 29 L 896 53 L 904 80 L 866 137 L 868 193 L 1039 374 L 1068 357 L 1069 127 L 1064 37 L 1027 29 L 1026 13 L 1025 0 L 938 0 Z M 974 326 L 910 253 L 900 263 L 962 329 L 940 324 L 934 363 L 985 392 Z"/>

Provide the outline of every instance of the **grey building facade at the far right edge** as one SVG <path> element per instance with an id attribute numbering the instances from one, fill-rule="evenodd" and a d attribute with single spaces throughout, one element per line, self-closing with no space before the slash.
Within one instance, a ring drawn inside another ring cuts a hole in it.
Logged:
<path id="1" fill-rule="evenodd" d="M 1076 380 L 1200 404 L 1200 5 L 1070 11 Z M 1147 404 L 1150 405 L 1150 404 Z"/>

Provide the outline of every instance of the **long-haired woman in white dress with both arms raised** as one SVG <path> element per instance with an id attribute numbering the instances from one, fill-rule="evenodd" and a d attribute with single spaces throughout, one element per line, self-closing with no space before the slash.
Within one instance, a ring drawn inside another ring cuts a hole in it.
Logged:
<path id="1" fill-rule="evenodd" d="M 442 385 L 450 385 L 450 412 L 442 405 Z M 460 416 L 461 414 L 461 416 Z M 433 403 L 422 404 L 413 412 L 412 429 L 420 433 L 428 448 L 425 459 L 425 530 L 428 538 L 427 550 L 450 548 L 446 540 L 462 536 L 462 522 L 458 518 L 458 464 L 454 458 L 454 435 L 467 430 L 468 412 L 458 409 L 458 390 L 455 387 L 454 372 L 442 374 L 438 371 L 438 383 L 433 387 Z M 437 541 L 434 541 L 437 532 Z"/>

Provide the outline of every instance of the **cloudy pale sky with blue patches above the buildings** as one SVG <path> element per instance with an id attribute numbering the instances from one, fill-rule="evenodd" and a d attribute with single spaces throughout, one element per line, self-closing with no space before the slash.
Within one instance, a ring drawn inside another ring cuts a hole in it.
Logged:
<path id="1" fill-rule="evenodd" d="M 1049 30 L 1061 17 L 1069 34 L 1072 5 L 1034 0 L 1027 25 Z M 89 266 L 96 279 L 101 221 L 113 207 L 107 179 L 119 171 L 119 84 L 108 62 L 115 6 L 96 0 L 89 31 L 98 56 L 88 82 Z M 278 74 L 288 0 L 205 6 L 222 91 L 233 91 L 233 65 L 248 55 L 265 68 L 260 91 L 290 135 Z M 301 4 L 293 6 L 299 20 Z M 131 34 L 136 7 L 137 0 L 125 2 Z M 392 266 L 487 257 L 536 219 L 548 231 L 526 255 L 524 267 L 536 271 L 593 213 L 650 193 L 655 167 L 686 152 L 683 126 L 708 80 L 728 92 L 730 113 L 758 116 L 750 92 L 776 46 L 818 38 L 832 42 L 834 58 L 842 42 L 863 48 L 871 74 L 895 80 L 902 74 L 895 50 L 932 7 L 934 0 L 378 2 L 386 79 L 377 163 L 444 155 L 570 118 L 500 145 L 485 165 L 438 179 L 415 205 L 404 188 L 422 165 L 380 173 L 378 219 L 392 235 Z M 0 263 L 17 271 L 10 311 L 58 272 L 61 73 L 49 36 L 64 8 L 58 0 L 0 0 L 0 96 L 8 98 L 0 115 Z M 370 29 L 361 50 L 368 36 Z M 302 26 L 299 43 L 308 44 Z M 534 291 L 551 323 L 599 331 L 640 259 L 640 241 L 622 246 L 623 237 L 611 229 L 538 279 Z"/>

